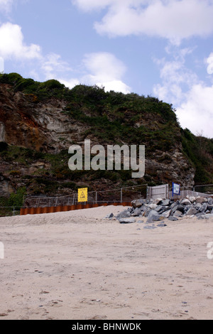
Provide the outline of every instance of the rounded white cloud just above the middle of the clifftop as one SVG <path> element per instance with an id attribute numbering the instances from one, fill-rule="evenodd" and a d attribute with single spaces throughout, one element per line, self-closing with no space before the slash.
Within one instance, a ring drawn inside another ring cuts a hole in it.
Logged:
<path id="1" fill-rule="evenodd" d="M 104 86 L 106 91 L 114 90 L 127 94 L 131 88 L 122 78 L 126 72 L 126 66 L 111 53 L 89 53 L 84 56 L 84 67 L 87 74 L 82 77 L 87 85 Z"/>

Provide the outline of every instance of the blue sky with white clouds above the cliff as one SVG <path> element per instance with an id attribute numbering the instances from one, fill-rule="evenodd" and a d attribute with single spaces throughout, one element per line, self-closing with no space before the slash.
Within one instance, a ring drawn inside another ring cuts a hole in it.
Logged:
<path id="1" fill-rule="evenodd" d="M 0 0 L 0 72 L 158 97 L 213 138 L 213 0 Z"/>

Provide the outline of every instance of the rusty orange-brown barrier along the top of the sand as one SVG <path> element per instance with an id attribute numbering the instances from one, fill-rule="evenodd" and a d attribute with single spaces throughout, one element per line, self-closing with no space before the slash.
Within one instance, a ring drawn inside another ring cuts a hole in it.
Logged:
<path id="1" fill-rule="evenodd" d="M 58 207 L 47 207 L 47 208 L 21 208 L 20 215 L 41 215 L 43 213 L 54 213 L 54 212 L 65 212 L 72 210 L 82 210 L 90 208 L 98 208 L 99 206 L 109 206 L 109 205 L 122 205 L 122 206 L 131 206 L 130 202 L 124 203 L 103 203 L 103 204 L 77 204 L 77 205 L 65 205 Z"/>

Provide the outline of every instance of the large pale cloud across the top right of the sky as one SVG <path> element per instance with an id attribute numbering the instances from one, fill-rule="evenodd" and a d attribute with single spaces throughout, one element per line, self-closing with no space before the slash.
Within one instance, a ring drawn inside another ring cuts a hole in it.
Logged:
<path id="1" fill-rule="evenodd" d="M 142 34 L 179 45 L 184 38 L 213 33 L 212 0 L 75 0 L 74 4 L 84 11 L 107 8 L 94 28 L 112 37 Z"/>

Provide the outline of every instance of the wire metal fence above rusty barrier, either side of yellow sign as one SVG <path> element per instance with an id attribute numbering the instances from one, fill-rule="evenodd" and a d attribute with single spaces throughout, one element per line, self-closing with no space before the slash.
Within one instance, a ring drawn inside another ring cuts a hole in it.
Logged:
<path id="1" fill-rule="evenodd" d="M 131 187 L 100 190 L 88 193 L 88 204 L 124 203 L 138 198 L 147 197 L 148 185 L 133 185 Z M 65 205 L 76 205 L 77 193 L 58 197 L 24 196 L 23 208 L 48 208 Z"/>

